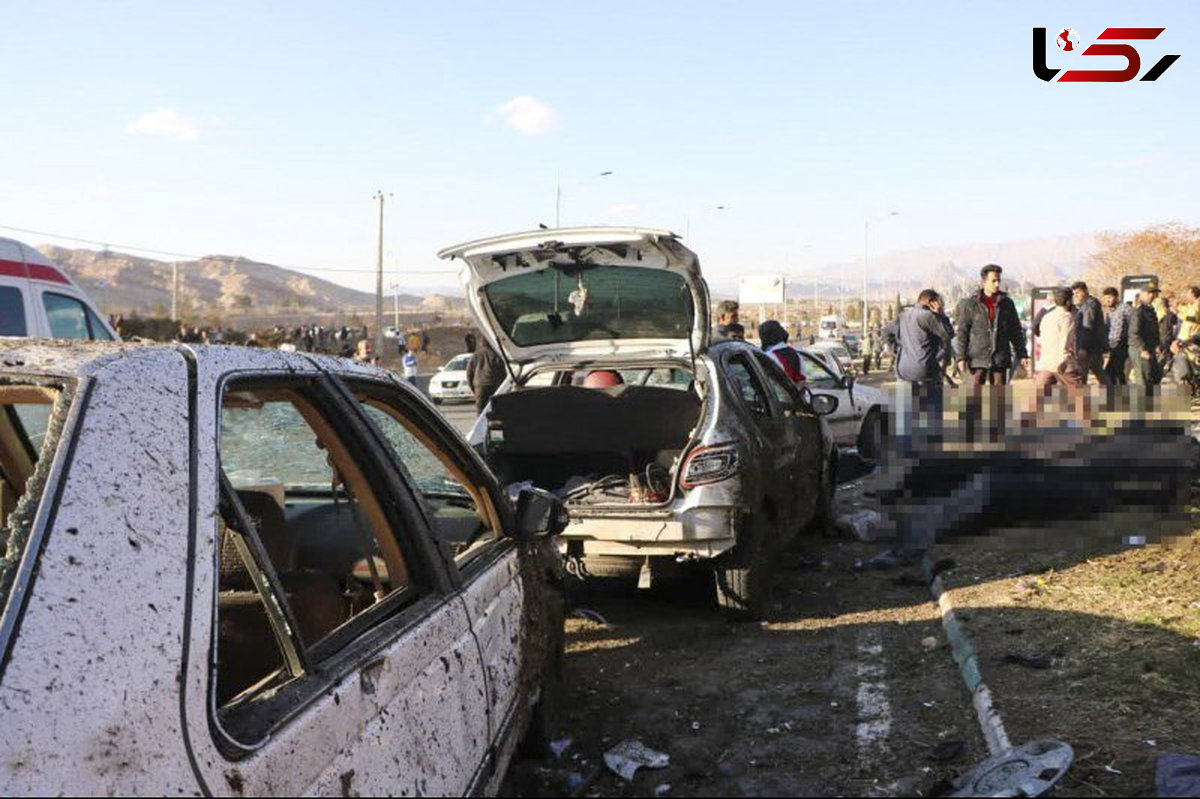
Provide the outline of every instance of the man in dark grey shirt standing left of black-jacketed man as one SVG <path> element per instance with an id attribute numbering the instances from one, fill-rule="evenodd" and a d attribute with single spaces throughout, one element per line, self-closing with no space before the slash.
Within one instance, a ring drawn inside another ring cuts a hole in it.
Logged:
<path id="1" fill-rule="evenodd" d="M 942 374 L 950 353 L 950 332 L 935 310 L 940 302 L 937 292 L 925 289 L 917 296 L 917 305 L 906 308 L 882 332 L 883 343 L 895 358 L 896 377 L 912 388 L 913 410 L 930 429 L 937 428 L 942 416 Z"/>

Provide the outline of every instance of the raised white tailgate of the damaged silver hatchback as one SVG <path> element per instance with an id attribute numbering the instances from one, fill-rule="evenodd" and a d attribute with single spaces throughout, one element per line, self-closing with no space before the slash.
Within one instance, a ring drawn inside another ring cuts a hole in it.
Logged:
<path id="1" fill-rule="evenodd" d="M 670 230 L 557 228 L 446 247 L 476 324 L 510 364 L 689 356 L 708 346 L 708 287 Z"/>

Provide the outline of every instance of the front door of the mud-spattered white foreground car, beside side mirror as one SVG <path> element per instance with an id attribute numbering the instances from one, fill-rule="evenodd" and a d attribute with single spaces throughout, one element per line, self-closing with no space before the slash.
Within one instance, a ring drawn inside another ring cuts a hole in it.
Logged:
<path id="1" fill-rule="evenodd" d="M 554 630 L 535 641 L 526 629 L 527 602 L 534 614 L 546 611 L 529 599 L 542 585 L 526 582 L 516 541 L 505 534 L 512 522 L 494 476 L 443 417 L 400 385 L 365 379 L 348 385 L 416 486 L 432 542 L 462 588 L 487 692 L 492 746 L 481 779 L 493 781 L 522 732 L 521 705 L 536 698 L 538 655 L 557 641 Z"/>

